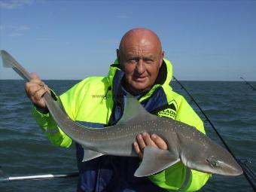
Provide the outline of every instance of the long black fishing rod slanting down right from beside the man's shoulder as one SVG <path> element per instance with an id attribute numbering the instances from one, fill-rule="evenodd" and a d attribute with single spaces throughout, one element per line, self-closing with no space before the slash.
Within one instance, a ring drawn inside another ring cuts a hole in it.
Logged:
<path id="1" fill-rule="evenodd" d="M 252 170 L 250 169 L 250 171 L 248 171 L 249 167 L 246 165 L 246 163 L 242 163 L 241 161 L 237 160 L 236 156 L 233 154 L 233 152 L 230 150 L 230 148 L 228 147 L 227 143 L 224 141 L 224 139 L 222 138 L 221 134 L 218 133 L 218 130 L 215 128 L 215 126 L 213 125 L 212 121 L 209 120 L 209 117 L 207 117 L 207 115 L 204 113 L 203 109 L 200 107 L 200 105 L 196 102 L 196 100 L 193 98 L 193 96 L 186 90 L 186 88 L 181 84 L 180 81 L 178 81 L 177 78 L 175 78 L 174 76 L 172 76 L 175 81 L 178 82 L 178 84 L 180 84 L 181 88 L 187 93 L 188 96 L 190 96 L 190 99 L 194 102 L 195 105 L 197 105 L 197 107 L 200 109 L 201 113 L 204 115 L 204 117 L 206 118 L 206 120 L 210 123 L 210 125 L 212 126 L 213 130 L 215 130 L 215 133 L 218 135 L 219 139 L 221 139 L 221 142 L 224 144 L 225 148 L 227 148 L 227 151 L 230 152 L 230 154 L 233 156 L 233 158 L 236 160 L 237 163 L 239 163 L 239 165 L 242 167 L 243 170 L 243 174 L 245 175 L 246 180 L 248 181 L 248 183 L 251 185 L 251 187 L 253 188 L 254 191 L 256 191 L 256 180 L 254 178 L 254 181 L 251 181 L 251 178 L 249 175 L 254 175 L 251 174 Z M 253 172 L 252 172 L 253 173 Z"/>

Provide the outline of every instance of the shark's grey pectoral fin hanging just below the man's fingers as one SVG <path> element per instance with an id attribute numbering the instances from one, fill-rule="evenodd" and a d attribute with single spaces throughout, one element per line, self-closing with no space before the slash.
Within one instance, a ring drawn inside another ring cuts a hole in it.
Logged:
<path id="1" fill-rule="evenodd" d="M 180 161 L 179 157 L 175 154 L 171 154 L 169 151 L 146 146 L 144 148 L 142 163 L 134 173 L 134 176 L 144 177 L 155 174 L 172 166 L 178 161 Z"/>

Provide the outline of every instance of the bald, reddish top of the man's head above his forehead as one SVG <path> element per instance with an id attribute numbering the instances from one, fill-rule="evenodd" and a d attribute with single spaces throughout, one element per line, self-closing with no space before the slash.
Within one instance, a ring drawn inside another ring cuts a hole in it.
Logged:
<path id="1" fill-rule="evenodd" d="M 120 41 L 119 50 L 125 50 L 126 47 L 129 47 L 129 45 L 134 43 L 134 41 L 137 41 L 138 44 L 147 44 L 147 42 L 148 44 L 154 44 L 154 47 L 157 47 L 157 50 L 160 51 L 160 53 L 162 52 L 162 45 L 157 34 L 150 29 L 145 28 L 131 29 L 130 31 L 126 32 Z"/>

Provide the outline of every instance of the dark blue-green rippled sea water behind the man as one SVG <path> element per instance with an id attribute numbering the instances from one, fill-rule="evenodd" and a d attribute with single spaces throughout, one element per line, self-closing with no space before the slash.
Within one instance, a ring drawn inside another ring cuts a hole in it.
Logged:
<path id="1" fill-rule="evenodd" d="M 45 81 L 57 94 L 78 81 Z M 248 160 L 256 172 L 256 91 L 244 82 L 181 81 L 214 124 L 233 154 Z M 251 82 L 256 87 L 256 82 Z M 202 117 L 194 102 L 177 81 L 175 92 L 183 95 Z M 24 81 L 0 81 L 0 178 L 77 171 L 75 146 L 52 145 L 31 115 L 32 104 L 26 97 Z M 215 142 L 221 140 L 205 122 L 206 133 Z M 221 144 L 222 145 L 222 144 Z M 0 182 L 0 191 L 75 191 L 78 178 L 44 181 Z M 200 191 L 253 191 L 244 175 L 212 175 Z"/>

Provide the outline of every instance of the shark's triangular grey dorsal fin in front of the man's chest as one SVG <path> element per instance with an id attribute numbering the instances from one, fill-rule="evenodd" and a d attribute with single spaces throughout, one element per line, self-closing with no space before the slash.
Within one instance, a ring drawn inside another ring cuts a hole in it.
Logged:
<path id="1" fill-rule="evenodd" d="M 157 116 L 150 114 L 143 108 L 135 96 L 127 93 L 126 102 L 123 109 L 123 116 L 117 124 L 137 123 L 144 120 L 156 120 Z"/>

